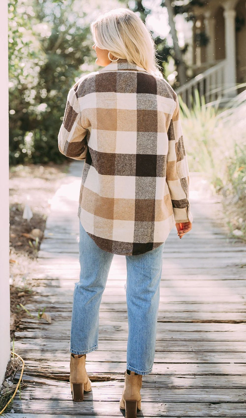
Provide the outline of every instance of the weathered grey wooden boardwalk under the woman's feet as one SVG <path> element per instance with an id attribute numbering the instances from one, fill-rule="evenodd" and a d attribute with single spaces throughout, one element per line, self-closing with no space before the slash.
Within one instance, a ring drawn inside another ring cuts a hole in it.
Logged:
<path id="1" fill-rule="evenodd" d="M 102 296 L 99 349 L 87 354 L 92 391 L 74 403 L 69 338 L 74 283 L 79 280 L 78 194 L 82 162 L 74 161 L 57 191 L 39 252 L 38 292 L 26 307 L 46 306 L 51 324 L 27 318 L 15 333 L 25 360 L 17 418 L 122 416 L 127 348 L 126 261 L 114 255 Z M 173 228 L 164 247 L 155 363 L 142 379 L 141 417 L 246 417 L 246 245 L 228 239 L 221 204 L 190 173 L 193 229 Z M 201 196 L 203 195 L 203 201 Z M 205 203 L 204 203 L 205 200 Z M 12 347 L 11 347 L 12 349 Z M 16 375 L 19 378 L 20 373 Z"/>

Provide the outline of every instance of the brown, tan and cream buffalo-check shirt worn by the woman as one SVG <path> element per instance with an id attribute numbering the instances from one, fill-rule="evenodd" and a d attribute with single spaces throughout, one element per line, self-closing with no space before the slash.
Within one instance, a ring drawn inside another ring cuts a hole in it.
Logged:
<path id="1" fill-rule="evenodd" d="M 68 92 L 58 148 L 85 160 L 78 217 L 103 250 L 142 254 L 175 222 L 193 222 L 179 103 L 165 79 L 126 59 L 82 76 Z"/>

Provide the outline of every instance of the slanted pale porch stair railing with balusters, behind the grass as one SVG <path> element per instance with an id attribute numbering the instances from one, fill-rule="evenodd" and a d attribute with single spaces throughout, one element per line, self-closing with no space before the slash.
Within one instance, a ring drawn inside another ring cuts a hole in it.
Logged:
<path id="1" fill-rule="evenodd" d="M 195 97 L 195 89 L 198 90 L 200 98 L 201 96 L 205 97 L 206 103 L 213 102 L 219 97 L 222 99 L 224 97 L 225 69 L 226 60 L 223 60 L 178 87 L 175 92 L 182 97 L 189 108 L 191 107 L 191 98 Z"/>

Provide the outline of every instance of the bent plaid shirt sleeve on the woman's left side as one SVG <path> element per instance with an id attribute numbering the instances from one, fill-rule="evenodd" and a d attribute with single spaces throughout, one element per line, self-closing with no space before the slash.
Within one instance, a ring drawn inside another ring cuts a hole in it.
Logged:
<path id="1" fill-rule="evenodd" d="M 84 160 L 88 150 L 87 130 L 81 125 L 81 110 L 73 88 L 68 92 L 63 122 L 58 133 L 59 151 L 74 160 Z"/>

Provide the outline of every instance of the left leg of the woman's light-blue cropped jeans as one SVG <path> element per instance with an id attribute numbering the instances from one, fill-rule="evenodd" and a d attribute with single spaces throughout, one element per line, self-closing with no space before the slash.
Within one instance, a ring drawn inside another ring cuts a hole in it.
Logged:
<path id="1" fill-rule="evenodd" d="M 79 220 L 79 282 L 75 283 L 70 352 L 87 354 L 98 349 L 99 308 L 114 254 L 102 250 Z"/>

